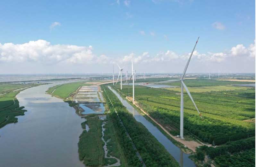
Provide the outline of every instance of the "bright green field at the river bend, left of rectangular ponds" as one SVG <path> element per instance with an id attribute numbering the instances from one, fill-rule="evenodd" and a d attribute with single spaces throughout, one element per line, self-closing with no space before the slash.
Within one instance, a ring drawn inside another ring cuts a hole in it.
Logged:
<path id="1" fill-rule="evenodd" d="M 86 84 L 85 82 L 86 81 L 79 81 L 79 82 L 72 82 L 72 83 L 67 83 L 63 85 L 57 85 L 55 87 L 50 87 L 46 92 L 56 97 L 66 99 L 79 87 L 90 85 L 90 84 Z"/>

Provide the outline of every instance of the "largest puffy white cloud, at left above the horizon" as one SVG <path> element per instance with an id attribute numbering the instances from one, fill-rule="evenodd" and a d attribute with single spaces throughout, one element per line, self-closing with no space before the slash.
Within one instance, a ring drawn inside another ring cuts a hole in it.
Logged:
<path id="1" fill-rule="evenodd" d="M 92 49 L 92 46 L 51 45 L 45 40 L 23 44 L 5 43 L 0 44 L 0 62 L 92 63 L 97 60 Z"/>

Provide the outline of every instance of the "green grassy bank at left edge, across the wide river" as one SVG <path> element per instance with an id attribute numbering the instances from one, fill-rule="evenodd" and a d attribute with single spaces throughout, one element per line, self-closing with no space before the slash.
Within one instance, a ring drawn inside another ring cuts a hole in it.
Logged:
<path id="1" fill-rule="evenodd" d="M 20 107 L 15 96 L 21 90 L 32 86 L 38 86 L 38 84 L 0 84 L 0 128 L 18 122 L 16 116 L 24 115 L 26 110 Z"/>

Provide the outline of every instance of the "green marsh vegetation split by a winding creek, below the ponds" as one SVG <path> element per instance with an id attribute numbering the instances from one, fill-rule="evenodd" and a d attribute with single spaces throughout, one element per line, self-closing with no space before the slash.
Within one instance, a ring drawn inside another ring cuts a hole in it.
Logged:
<path id="1" fill-rule="evenodd" d="M 83 161 L 86 166 L 104 166 L 116 163 L 114 158 L 105 158 L 103 150 L 104 142 L 102 141 L 102 123 L 97 115 L 88 115 L 86 121 L 81 123 L 83 133 L 79 137 L 78 152 L 79 159 Z M 86 131 L 86 124 L 89 126 L 89 131 Z M 108 155 L 119 158 L 120 154 L 116 146 L 116 140 L 109 134 L 112 130 L 109 124 L 104 126 L 107 130 L 104 131 L 104 140 L 106 139 Z M 109 140 L 110 139 L 110 140 Z"/>

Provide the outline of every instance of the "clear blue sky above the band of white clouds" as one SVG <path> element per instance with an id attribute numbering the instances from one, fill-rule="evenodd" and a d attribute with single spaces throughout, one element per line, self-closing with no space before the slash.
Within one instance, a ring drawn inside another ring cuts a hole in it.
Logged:
<path id="1" fill-rule="evenodd" d="M 2 0 L 0 11 L 2 45 L 24 44 L 37 40 L 45 40 L 50 42 L 50 45 L 91 45 L 94 56 L 105 55 L 111 57 L 109 62 L 113 63 L 113 60 L 120 59 L 119 63 L 125 64 L 122 57 L 131 53 L 138 57 L 148 52 L 149 57 L 156 57 L 159 53 L 165 54 L 170 50 L 181 57 L 191 52 L 197 37 L 200 36 L 196 50 L 201 54 L 212 56 L 208 54 L 210 52 L 227 55 L 231 54 L 228 52 L 232 47 L 242 44 L 247 49 L 246 53 L 242 51 L 242 56 L 254 54 L 255 62 L 255 51 L 249 52 L 249 46 L 254 44 L 255 40 L 253 0 L 27 0 L 26 3 L 21 0 Z M 51 27 L 54 22 L 55 26 Z M 6 52 L 14 54 L 6 51 L 6 48 L 2 51 L 0 49 L 0 52 L 4 53 L 4 56 Z M 15 56 L 17 55 L 12 55 Z M 225 56 L 225 59 L 229 59 L 226 57 L 232 56 Z M 232 61 L 235 61 L 234 58 L 236 57 L 233 57 Z M 6 59 L 5 57 L 4 60 Z M 31 63 L 29 58 L 25 59 Z M 8 64 L 15 64 L 9 60 Z M 238 60 L 240 61 L 239 58 Z M 33 61 L 37 63 L 35 59 Z M 54 63 L 61 64 L 63 61 L 64 59 L 62 62 Z M 185 64 L 186 60 L 183 61 Z M 183 61 L 178 60 L 174 65 Z M 101 70 L 106 67 L 102 65 Z M 234 69 L 232 66 L 225 71 Z M 249 71 L 253 72 L 254 69 L 255 64 L 251 63 Z M 200 72 L 198 70 L 191 72 Z M 163 69 L 163 72 L 165 71 Z"/>

